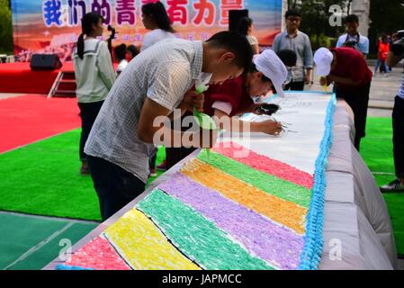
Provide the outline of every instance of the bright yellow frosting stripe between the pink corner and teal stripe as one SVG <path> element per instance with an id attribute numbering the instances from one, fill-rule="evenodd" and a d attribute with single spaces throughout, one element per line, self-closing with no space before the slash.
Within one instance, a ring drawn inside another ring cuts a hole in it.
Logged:
<path id="1" fill-rule="evenodd" d="M 112 245 L 137 270 L 201 270 L 184 257 L 142 212 L 132 209 L 105 230 Z"/>

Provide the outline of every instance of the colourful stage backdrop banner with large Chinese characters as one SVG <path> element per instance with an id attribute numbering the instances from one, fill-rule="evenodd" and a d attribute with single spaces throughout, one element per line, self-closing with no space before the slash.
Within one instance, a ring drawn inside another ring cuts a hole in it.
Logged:
<path id="1" fill-rule="evenodd" d="M 71 59 L 71 50 L 81 31 L 80 19 L 90 11 L 102 14 L 118 34 L 112 45 L 141 45 L 147 32 L 141 22 L 141 5 L 154 0 L 11 0 L 14 52 L 19 61 L 31 54 L 57 53 L 62 61 Z M 162 0 L 177 36 L 207 40 L 229 27 L 229 10 L 248 9 L 254 19 L 254 35 L 269 46 L 281 31 L 282 0 Z M 108 38 L 105 29 L 104 39 Z"/>

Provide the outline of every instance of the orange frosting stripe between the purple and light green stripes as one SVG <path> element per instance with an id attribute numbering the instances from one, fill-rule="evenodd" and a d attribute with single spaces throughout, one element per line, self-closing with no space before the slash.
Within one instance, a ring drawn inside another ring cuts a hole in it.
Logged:
<path id="1" fill-rule="evenodd" d="M 299 234 L 305 232 L 307 209 L 294 202 L 265 193 L 196 158 L 185 164 L 181 173 Z"/>

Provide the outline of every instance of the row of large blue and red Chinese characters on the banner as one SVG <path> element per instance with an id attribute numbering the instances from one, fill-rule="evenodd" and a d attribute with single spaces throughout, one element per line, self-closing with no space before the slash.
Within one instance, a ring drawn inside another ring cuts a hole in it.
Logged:
<path id="1" fill-rule="evenodd" d="M 42 17 L 47 27 L 74 27 L 80 25 L 84 14 L 92 11 L 103 15 L 105 24 L 136 25 L 140 6 L 150 2 L 156 0 L 44 0 Z M 229 10 L 244 8 L 244 0 L 220 0 L 219 3 L 217 5 L 212 0 L 166 0 L 166 10 L 175 26 L 227 27 Z"/>

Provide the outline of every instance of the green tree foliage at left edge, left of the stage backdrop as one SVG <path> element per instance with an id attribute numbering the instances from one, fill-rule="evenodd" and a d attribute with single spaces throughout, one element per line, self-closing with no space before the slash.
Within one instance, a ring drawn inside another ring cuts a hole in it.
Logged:
<path id="1" fill-rule="evenodd" d="M 10 0 L 0 0 L 0 53 L 13 51 L 13 24 Z"/>

